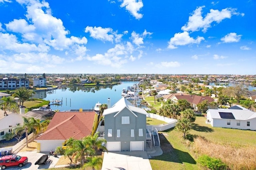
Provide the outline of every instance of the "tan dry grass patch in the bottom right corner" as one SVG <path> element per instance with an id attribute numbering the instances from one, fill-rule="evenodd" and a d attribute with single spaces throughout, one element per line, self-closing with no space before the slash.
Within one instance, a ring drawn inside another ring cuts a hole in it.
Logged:
<path id="1" fill-rule="evenodd" d="M 220 158 L 232 170 L 256 169 L 256 146 L 221 145 L 198 137 L 194 140 L 193 149 L 200 155 Z"/>

